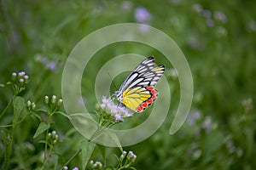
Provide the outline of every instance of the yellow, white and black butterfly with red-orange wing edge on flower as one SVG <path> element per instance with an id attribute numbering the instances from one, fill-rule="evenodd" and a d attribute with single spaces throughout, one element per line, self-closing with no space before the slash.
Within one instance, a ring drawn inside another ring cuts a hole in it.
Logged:
<path id="1" fill-rule="evenodd" d="M 154 66 L 154 56 L 144 59 L 125 78 L 115 92 L 116 98 L 132 111 L 144 111 L 157 99 L 158 91 L 154 86 L 164 72 L 165 65 Z"/>

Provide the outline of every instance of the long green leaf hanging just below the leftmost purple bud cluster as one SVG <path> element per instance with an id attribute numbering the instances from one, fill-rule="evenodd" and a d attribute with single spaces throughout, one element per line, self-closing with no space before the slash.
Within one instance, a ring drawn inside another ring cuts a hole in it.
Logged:
<path id="1" fill-rule="evenodd" d="M 16 96 L 14 99 L 13 125 L 15 125 L 16 122 L 18 122 L 21 115 L 21 111 L 23 110 L 24 106 L 25 106 L 25 99 L 20 96 Z"/>

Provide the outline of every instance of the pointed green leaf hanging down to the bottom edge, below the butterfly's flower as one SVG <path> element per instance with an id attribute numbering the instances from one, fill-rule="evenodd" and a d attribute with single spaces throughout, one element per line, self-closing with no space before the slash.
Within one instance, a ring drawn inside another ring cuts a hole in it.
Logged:
<path id="1" fill-rule="evenodd" d="M 95 143 L 89 142 L 84 139 L 81 142 L 81 150 L 82 150 L 82 169 L 84 170 L 88 161 L 90 160 L 90 156 L 95 148 Z"/>

